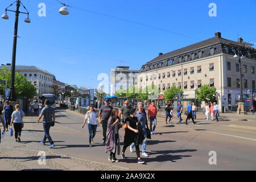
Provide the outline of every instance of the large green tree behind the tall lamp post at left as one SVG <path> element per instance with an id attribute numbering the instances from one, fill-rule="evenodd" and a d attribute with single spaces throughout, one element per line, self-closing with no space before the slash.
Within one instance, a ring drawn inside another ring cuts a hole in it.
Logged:
<path id="1" fill-rule="evenodd" d="M 0 80 L 5 80 L 7 82 L 7 88 L 11 86 L 11 71 L 10 69 L 3 68 L 0 70 Z M 35 86 L 27 81 L 25 77 L 20 73 L 15 73 L 15 82 L 14 82 L 15 94 L 18 98 L 33 98 L 37 96 Z M 4 86 L 0 86 L 1 92 L 4 90 Z"/>

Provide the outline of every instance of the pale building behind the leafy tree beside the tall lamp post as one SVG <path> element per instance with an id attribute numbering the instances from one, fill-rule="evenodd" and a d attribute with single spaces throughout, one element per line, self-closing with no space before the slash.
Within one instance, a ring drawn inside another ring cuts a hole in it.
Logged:
<path id="1" fill-rule="evenodd" d="M 11 69 L 11 65 L 1 65 L 0 69 L 3 69 L 3 67 Z M 51 73 L 35 66 L 26 65 L 16 65 L 15 72 L 21 73 L 22 76 L 27 78 L 27 81 L 35 85 L 39 97 L 43 94 L 52 93 L 53 75 Z"/>

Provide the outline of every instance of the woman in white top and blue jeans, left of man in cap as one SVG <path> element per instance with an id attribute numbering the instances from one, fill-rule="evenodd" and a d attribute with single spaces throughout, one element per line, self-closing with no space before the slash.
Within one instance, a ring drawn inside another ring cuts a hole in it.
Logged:
<path id="1" fill-rule="evenodd" d="M 96 111 L 94 110 L 94 105 L 90 105 L 90 110 L 87 111 L 84 118 L 84 123 L 82 124 L 82 128 L 84 128 L 85 123 L 88 123 L 88 130 L 89 130 L 89 147 L 92 147 L 93 138 L 96 135 L 98 120 Z"/>

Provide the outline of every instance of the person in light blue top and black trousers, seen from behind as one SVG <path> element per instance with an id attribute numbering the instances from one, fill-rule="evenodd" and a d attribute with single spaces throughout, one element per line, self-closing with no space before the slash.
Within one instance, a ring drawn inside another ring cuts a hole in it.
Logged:
<path id="1" fill-rule="evenodd" d="M 13 114 L 11 114 L 11 126 L 14 126 L 15 130 L 15 142 L 20 142 L 20 135 L 22 132 L 22 125 L 23 125 L 23 120 L 22 118 L 25 117 L 25 113 L 23 110 L 19 109 L 19 104 L 15 105 L 15 111 Z"/>

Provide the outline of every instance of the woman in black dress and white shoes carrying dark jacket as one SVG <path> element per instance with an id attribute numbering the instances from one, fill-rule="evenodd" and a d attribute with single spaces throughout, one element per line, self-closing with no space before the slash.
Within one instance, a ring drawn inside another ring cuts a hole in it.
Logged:
<path id="1" fill-rule="evenodd" d="M 125 119 L 125 124 L 127 128 L 125 129 L 125 140 L 124 140 L 124 146 L 121 153 L 122 159 L 125 158 L 125 150 L 128 146 L 131 145 L 131 143 L 135 143 L 136 148 L 136 154 L 138 158 L 138 163 L 143 164 L 144 161 L 141 160 L 141 156 L 139 154 L 139 144 L 142 143 L 144 140 L 144 134 L 142 131 L 141 123 L 139 123 L 138 118 L 135 117 L 137 114 L 136 109 L 132 108 L 130 109 L 130 116 Z"/>

